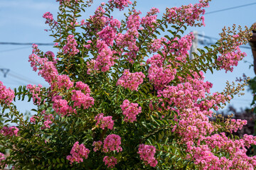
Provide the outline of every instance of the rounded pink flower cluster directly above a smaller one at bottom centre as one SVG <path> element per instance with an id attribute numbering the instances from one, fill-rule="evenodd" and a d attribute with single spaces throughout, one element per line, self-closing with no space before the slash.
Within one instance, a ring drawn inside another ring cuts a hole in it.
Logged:
<path id="1" fill-rule="evenodd" d="M 122 147 L 121 145 L 121 137 L 119 135 L 107 135 L 106 139 L 104 140 L 103 145 L 103 152 L 111 152 L 111 151 L 117 151 L 121 152 Z"/>

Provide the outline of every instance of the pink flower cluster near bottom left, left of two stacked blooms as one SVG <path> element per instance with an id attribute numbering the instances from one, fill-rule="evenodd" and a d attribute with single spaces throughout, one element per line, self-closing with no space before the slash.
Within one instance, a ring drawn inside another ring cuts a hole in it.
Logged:
<path id="1" fill-rule="evenodd" d="M 70 154 L 67 156 L 67 159 L 70 161 L 70 164 L 73 162 L 83 162 L 83 158 L 87 159 L 90 150 L 85 147 L 85 145 L 79 145 L 79 142 L 75 142 L 73 145 Z"/>

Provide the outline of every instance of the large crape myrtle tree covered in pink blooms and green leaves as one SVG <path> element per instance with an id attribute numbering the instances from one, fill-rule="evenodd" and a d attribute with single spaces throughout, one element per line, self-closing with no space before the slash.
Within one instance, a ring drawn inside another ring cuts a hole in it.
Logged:
<path id="1" fill-rule="evenodd" d="M 223 28 L 190 60 L 193 33 L 184 31 L 204 25 L 208 0 L 161 17 L 157 8 L 142 16 L 135 1 L 110 0 L 86 20 L 92 1 L 58 2 L 56 18 L 43 15 L 58 52 L 33 45 L 29 55 L 50 87 L 0 84 L 2 169 L 254 169 L 246 152 L 256 138 L 232 135 L 246 120 L 209 120 L 247 79 L 215 93 L 203 81 L 208 70 L 233 71 L 249 28 Z M 112 16 L 124 8 L 124 20 Z M 30 120 L 16 100 L 33 100 Z"/>

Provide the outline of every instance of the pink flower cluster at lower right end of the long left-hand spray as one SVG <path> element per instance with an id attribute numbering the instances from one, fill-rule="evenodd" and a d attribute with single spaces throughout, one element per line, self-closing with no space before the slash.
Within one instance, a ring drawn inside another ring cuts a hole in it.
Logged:
<path id="1" fill-rule="evenodd" d="M 80 108 L 82 106 L 86 109 L 94 105 L 94 98 L 92 98 L 90 94 L 84 94 L 80 90 L 73 90 L 72 93 L 71 100 L 75 101 L 73 105 L 74 107 L 78 106 L 78 108 Z"/>

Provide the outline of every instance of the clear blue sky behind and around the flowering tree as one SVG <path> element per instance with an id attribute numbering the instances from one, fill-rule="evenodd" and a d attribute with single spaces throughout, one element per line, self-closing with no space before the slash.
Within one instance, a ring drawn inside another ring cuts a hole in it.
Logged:
<path id="1" fill-rule="evenodd" d="M 95 8 L 99 6 L 102 1 L 95 1 L 95 3 L 87 10 L 84 16 L 86 19 L 90 16 Z M 194 4 L 197 1 L 188 0 L 139 0 L 137 2 L 137 9 L 145 14 L 151 7 L 159 8 L 161 12 L 165 11 L 166 7 L 181 6 L 186 4 Z M 242 6 L 245 4 L 255 3 L 255 0 L 213 0 L 210 2 L 210 7 L 206 8 L 206 12 L 216 11 L 223 8 L 230 8 L 233 6 Z M 256 4 L 252 6 L 245 6 L 235 8 L 228 11 L 221 11 L 218 13 L 210 13 L 205 16 L 206 27 L 202 28 L 188 28 L 188 31 L 197 30 L 206 36 L 218 38 L 218 33 L 224 26 L 233 26 L 233 23 L 240 26 L 251 26 L 256 22 Z M 43 13 L 50 11 L 53 16 L 57 15 L 58 2 L 55 0 L 1 0 L 0 1 L 0 42 L 52 42 L 53 39 L 44 31 L 47 28 L 45 20 L 42 18 Z M 114 18 L 122 17 L 122 13 L 118 10 L 113 13 Z M 82 19 L 82 18 L 81 18 Z M 199 45 L 198 47 L 202 47 Z M 53 50 L 50 46 L 39 46 L 44 52 Z M 252 63 L 252 52 L 250 49 L 241 49 L 247 53 L 245 60 Z M 46 81 L 38 77 L 36 72 L 32 71 L 28 63 L 28 55 L 31 54 L 31 47 L 29 45 L 0 45 L 0 68 L 10 69 L 7 77 L 0 72 L 0 81 L 3 81 L 5 86 L 18 87 L 18 85 L 27 84 L 42 84 L 47 86 Z M 249 77 L 255 77 L 253 69 L 249 69 L 249 64 L 240 62 L 238 67 L 232 73 L 225 74 L 223 72 L 214 72 L 214 74 L 206 74 L 206 80 L 213 83 L 211 92 L 223 91 L 225 88 L 225 81 L 235 81 L 236 77 L 242 77 L 245 73 Z M 235 97 L 231 104 L 235 108 L 250 107 L 252 101 L 252 94 L 245 91 L 245 96 L 240 98 Z M 33 106 L 30 103 L 18 102 L 18 108 L 21 111 L 29 111 Z"/>

